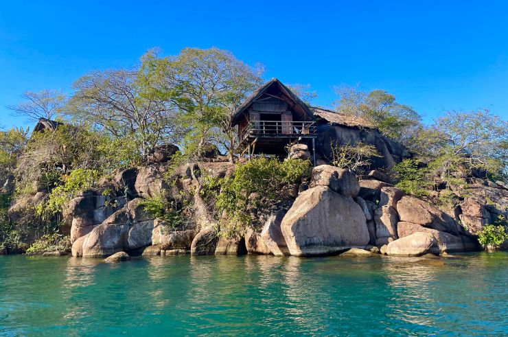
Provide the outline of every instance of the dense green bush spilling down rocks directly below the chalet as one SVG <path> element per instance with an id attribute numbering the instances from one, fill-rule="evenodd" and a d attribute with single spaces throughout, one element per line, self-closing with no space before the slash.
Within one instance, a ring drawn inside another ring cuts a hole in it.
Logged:
<path id="1" fill-rule="evenodd" d="M 216 207 L 220 216 L 220 235 L 240 235 L 251 224 L 249 209 L 262 208 L 284 198 L 284 186 L 297 183 L 310 173 L 310 162 L 299 159 L 257 158 L 235 167 L 233 175 L 218 182 L 209 182 L 206 190 L 220 192 Z M 225 217 L 223 216 L 225 215 Z"/>

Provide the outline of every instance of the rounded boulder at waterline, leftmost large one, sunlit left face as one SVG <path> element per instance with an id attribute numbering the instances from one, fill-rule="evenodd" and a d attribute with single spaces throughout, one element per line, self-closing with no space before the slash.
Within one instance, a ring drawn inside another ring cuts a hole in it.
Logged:
<path id="1" fill-rule="evenodd" d="M 128 224 L 103 223 L 96 226 L 84 239 L 82 256 L 106 257 L 123 251 L 128 231 Z"/>

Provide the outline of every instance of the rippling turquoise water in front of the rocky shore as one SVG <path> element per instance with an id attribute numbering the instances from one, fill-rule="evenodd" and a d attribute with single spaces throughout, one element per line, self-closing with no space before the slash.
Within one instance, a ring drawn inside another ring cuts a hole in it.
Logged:
<path id="1" fill-rule="evenodd" d="M 0 336 L 508 334 L 508 253 L 0 256 Z"/>

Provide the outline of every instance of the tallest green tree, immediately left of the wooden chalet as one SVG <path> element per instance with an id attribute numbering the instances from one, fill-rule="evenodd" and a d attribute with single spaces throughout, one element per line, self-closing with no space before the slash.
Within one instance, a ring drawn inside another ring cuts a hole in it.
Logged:
<path id="1" fill-rule="evenodd" d="M 205 143 L 214 142 L 233 160 L 238 135 L 231 119 L 261 84 L 261 67 L 249 67 L 231 52 L 212 47 L 185 48 L 165 58 L 151 52 L 144 56 L 141 70 L 150 94 L 157 93 L 178 106 L 186 152 L 199 154 Z"/>

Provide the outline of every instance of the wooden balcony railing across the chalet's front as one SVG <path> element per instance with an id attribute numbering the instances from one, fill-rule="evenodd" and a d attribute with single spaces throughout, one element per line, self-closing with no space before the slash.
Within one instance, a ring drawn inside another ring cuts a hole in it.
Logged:
<path id="1" fill-rule="evenodd" d="M 244 129 L 243 137 L 308 136 L 316 135 L 314 121 L 250 121 Z"/>

